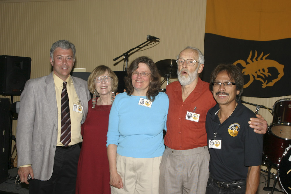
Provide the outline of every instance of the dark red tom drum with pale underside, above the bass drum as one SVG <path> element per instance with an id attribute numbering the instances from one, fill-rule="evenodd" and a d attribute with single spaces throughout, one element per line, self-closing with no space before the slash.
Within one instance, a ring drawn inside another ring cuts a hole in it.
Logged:
<path id="1" fill-rule="evenodd" d="M 275 136 L 291 140 L 291 99 L 285 98 L 275 102 L 270 128 Z"/>

